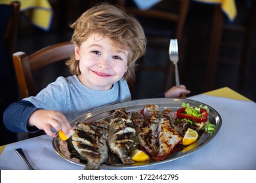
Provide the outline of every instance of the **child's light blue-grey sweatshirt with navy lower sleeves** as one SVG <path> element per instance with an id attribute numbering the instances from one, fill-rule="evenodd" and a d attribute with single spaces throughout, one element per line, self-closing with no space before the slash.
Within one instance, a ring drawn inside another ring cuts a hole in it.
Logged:
<path id="1" fill-rule="evenodd" d="M 93 90 L 83 86 L 77 76 L 58 77 L 55 82 L 41 90 L 35 97 L 12 103 L 3 115 L 7 129 L 13 132 L 36 132 L 36 127 L 27 127 L 28 118 L 38 108 L 58 110 L 72 121 L 94 108 L 130 101 L 131 93 L 126 80 L 114 83 L 110 90 Z"/>

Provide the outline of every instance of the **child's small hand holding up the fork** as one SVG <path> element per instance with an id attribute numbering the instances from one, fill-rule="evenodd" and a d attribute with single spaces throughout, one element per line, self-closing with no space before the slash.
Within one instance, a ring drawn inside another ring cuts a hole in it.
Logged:
<path id="1" fill-rule="evenodd" d="M 167 92 L 165 92 L 165 98 L 178 98 L 178 97 L 184 97 L 187 94 L 189 94 L 190 91 L 186 90 L 186 86 L 173 86 L 170 88 Z"/>

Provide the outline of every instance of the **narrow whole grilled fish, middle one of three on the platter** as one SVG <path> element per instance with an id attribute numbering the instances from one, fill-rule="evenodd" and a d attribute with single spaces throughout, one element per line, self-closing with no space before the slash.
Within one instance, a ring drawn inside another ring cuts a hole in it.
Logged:
<path id="1" fill-rule="evenodd" d="M 123 164 L 135 163 L 129 154 L 137 146 L 137 133 L 129 114 L 123 108 L 115 110 L 110 120 L 108 134 L 108 146 L 119 156 Z"/>

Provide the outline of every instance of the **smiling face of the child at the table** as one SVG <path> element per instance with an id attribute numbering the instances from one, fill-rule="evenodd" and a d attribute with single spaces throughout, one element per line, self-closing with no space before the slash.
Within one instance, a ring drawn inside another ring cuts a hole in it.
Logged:
<path id="1" fill-rule="evenodd" d="M 75 59 L 79 60 L 81 71 L 79 80 L 94 90 L 110 90 L 127 71 L 128 54 L 108 37 L 89 36 L 80 48 L 75 46 Z"/>

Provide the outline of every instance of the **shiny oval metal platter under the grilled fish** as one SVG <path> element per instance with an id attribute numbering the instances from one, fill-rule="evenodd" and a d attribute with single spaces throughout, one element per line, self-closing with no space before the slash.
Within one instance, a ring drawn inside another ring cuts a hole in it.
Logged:
<path id="1" fill-rule="evenodd" d="M 117 103 L 114 105 L 108 105 L 106 107 L 96 108 L 95 110 L 91 110 L 89 112 L 86 112 L 85 114 L 79 116 L 75 120 L 72 120 L 70 124 L 72 126 L 75 125 L 75 122 L 93 122 L 93 121 L 99 121 L 106 118 L 111 118 L 112 113 L 117 108 L 125 108 L 127 112 L 132 112 L 135 110 L 141 110 L 148 104 L 154 104 L 158 105 L 160 107 L 160 111 L 163 110 L 164 107 L 170 108 L 174 112 L 177 111 L 178 108 L 181 108 L 182 103 L 189 103 L 192 107 L 198 107 L 199 105 L 206 105 L 204 103 L 200 103 L 198 101 L 194 101 L 191 99 L 166 99 L 166 98 L 159 98 L 159 99 L 140 99 L 140 100 L 134 100 L 134 101 L 127 101 L 123 103 Z M 100 166 L 100 169 L 135 169 L 137 167 L 148 167 L 151 165 L 157 165 L 161 163 L 167 163 L 169 161 L 173 161 L 175 159 L 182 158 L 184 156 L 187 156 L 188 154 L 191 154 L 192 152 L 195 152 L 205 144 L 207 144 L 211 139 L 217 135 L 219 132 L 219 129 L 221 128 L 222 120 L 219 113 L 209 105 L 209 113 L 208 118 L 209 122 L 211 124 L 214 124 L 216 127 L 215 132 L 210 135 L 209 133 L 203 133 L 198 138 L 198 141 L 194 142 L 193 144 L 190 144 L 189 146 L 186 146 L 185 148 L 181 148 L 179 150 L 175 150 L 169 156 L 167 156 L 167 159 L 163 161 L 146 161 L 144 163 L 134 163 L 132 165 L 123 165 L 123 164 L 114 164 L 114 165 L 106 165 L 102 164 Z M 59 139 L 58 134 L 56 137 L 53 138 L 53 148 L 56 151 L 56 153 L 62 158 L 66 159 L 70 163 L 75 163 L 76 165 L 81 165 L 83 167 L 86 166 L 85 163 L 81 163 L 79 159 L 72 158 L 70 159 L 70 152 L 68 151 L 68 145 L 67 142 L 63 142 Z"/>

